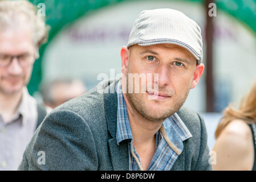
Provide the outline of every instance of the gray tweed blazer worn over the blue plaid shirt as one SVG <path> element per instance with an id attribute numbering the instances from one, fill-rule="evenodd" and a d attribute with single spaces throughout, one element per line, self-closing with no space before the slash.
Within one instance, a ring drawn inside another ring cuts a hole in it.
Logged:
<path id="1" fill-rule="evenodd" d="M 128 143 L 116 142 L 117 82 L 103 81 L 52 110 L 35 131 L 18 169 L 128 170 Z M 204 120 L 185 107 L 177 114 L 193 137 L 184 141 L 172 170 L 211 170 Z"/>

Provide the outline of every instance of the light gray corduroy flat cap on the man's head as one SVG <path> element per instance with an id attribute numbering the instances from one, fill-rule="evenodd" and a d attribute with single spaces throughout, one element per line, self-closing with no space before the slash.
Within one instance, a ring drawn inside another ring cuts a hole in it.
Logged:
<path id="1" fill-rule="evenodd" d="M 133 23 L 127 47 L 135 44 L 176 44 L 188 49 L 197 62 L 202 62 L 201 28 L 194 20 L 173 9 L 142 11 Z"/>

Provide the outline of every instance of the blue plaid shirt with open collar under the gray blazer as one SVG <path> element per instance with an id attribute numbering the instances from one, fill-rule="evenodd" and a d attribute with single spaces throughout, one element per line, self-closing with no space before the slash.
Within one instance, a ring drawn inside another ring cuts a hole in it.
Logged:
<path id="1" fill-rule="evenodd" d="M 177 113 L 166 118 L 156 133 L 155 154 L 149 164 L 149 171 L 168 171 L 183 150 L 183 141 L 192 137 L 188 128 Z M 143 170 L 140 156 L 133 146 L 132 130 L 129 123 L 127 106 L 121 90 L 121 80 L 117 85 L 117 145 L 123 140 L 129 140 L 129 170 Z"/>

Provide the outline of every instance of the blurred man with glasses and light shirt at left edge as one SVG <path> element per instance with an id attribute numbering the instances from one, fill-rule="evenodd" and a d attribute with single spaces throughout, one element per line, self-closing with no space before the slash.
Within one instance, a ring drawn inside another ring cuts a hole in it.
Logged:
<path id="1" fill-rule="evenodd" d="M 46 115 L 26 85 L 48 28 L 28 1 L 0 1 L 0 170 L 15 170 Z"/>

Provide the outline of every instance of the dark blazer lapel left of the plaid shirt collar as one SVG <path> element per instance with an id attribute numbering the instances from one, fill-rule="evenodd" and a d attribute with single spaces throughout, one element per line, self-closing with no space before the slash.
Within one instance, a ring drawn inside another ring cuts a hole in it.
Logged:
<path id="1" fill-rule="evenodd" d="M 108 91 L 115 90 L 117 81 L 109 81 Z M 105 93 L 104 94 L 104 110 L 105 118 L 107 121 L 108 133 L 111 139 L 108 140 L 109 154 L 111 155 L 111 162 L 113 170 L 123 171 L 129 169 L 129 156 L 127 142 L 121 142 L 117 146 L 116 141 L 116 125 L 117 125 L 117 94 Z"/>

